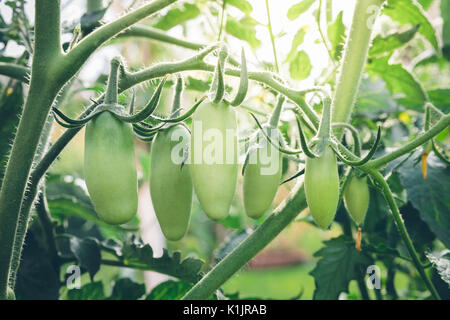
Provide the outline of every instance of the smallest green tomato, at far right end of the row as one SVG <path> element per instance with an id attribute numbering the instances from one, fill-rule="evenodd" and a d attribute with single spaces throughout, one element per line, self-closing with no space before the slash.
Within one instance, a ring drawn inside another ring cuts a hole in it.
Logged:
<path id="1" fill-rule="evenodd" d="M 364 222 L 369 208 L 370 192 L 367 177 L 352 176 L 344 191 L 344 204 L 352 219 L 359 226 Z"/>

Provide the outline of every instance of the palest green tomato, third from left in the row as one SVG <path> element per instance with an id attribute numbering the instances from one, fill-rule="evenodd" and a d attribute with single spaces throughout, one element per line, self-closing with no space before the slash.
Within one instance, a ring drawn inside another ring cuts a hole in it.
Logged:
<path id="1" fill-rule="evenodd" d="M 192 117 L 190 169 L 194 190 L 206 215 L 228 216 L 236 190 L 238 143 L 236 114 L 226 103 L 203 103 Z"/>

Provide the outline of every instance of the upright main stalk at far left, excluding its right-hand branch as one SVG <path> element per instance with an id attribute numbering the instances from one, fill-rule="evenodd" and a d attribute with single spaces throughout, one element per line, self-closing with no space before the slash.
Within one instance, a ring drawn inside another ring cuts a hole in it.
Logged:
<path id="1" fill-rule="evenodd" d="M 30 90 L 0 191 L 0 299 L 6 297 L 18 215 L 40 132 L 60 89 L 49 62 L 61 58 L 59 1 L 37 0 Z M 45 17 L 45 18 L 43 18 Z"/>

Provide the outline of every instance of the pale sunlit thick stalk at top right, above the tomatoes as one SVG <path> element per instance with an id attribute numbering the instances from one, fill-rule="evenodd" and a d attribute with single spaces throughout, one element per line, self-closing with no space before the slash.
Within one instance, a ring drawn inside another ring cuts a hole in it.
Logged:
<path id="1" fill-rule="evenodd" d="M 373 24 L 383 0 L 358 0 L 333 97 L 333 122 L 348 122 L 367 60 Z M 340 129 L 341 131 L 342 129 Z"/>

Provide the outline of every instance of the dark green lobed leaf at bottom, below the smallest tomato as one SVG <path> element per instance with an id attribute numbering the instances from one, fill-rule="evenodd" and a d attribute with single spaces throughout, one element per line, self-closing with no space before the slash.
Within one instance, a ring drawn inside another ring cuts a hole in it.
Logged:
<path id="1" fill-rule="evenodd" d="M 314 256 L 320 258 L 310 274 L 316 290 L 314 300 L 335 300 L 341 292 L 348 292 L 351 280 L 364 277 L 372 259 L 355 249 L 352 238 L 340 236 L 324 242 L 324 247 Z"/>

